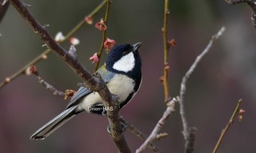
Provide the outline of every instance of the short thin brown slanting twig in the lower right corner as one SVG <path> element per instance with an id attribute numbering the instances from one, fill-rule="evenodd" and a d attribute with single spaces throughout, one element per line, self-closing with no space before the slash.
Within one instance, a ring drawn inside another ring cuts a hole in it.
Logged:
<path id="1" fill-rule="evenodd" d="M 243 100 L 241 100 L 241 99 L 238 101 L 238 103 L 236 105 L 236 109 L 233 111 L 233 114 L 232 114 L 230 120 L 227 122 L 227 125 L 226 125 L 225 129 L 222 130 L 222 133 L 219 136 L 219 140 L 217 141 L 217 144 L 214 147 L 214 152 L 213 153 L 216 153 L 217 150 L 219 149 L 219 145 L 222 143 L 222 140 L 223 140 L 225 134 L 227 133 L 227 130 L 229 129 L 230 125 L 233 124 L 234 119 L 236 117 L 236 114 L 238 114 L 238 111 L 240 110 L 240 106 L 241 106 L 242 102 L 243 102 Z"/>

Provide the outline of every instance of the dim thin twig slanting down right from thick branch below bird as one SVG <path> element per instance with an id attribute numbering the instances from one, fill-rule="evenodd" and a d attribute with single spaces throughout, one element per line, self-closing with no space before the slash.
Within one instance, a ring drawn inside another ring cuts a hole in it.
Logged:
<path id="1" fill-rule="evenodd" d="M 136 128 L 135 126 L 127 122 L 127 120 L 124 119 L 123 117 L 120 117 L 120 120 L 125 125 L 127 125 L 127 129 L 129 129 L 135 136 L 137 136 L 143 141 L 146 140 L 146 136 L 143 133 L 141 133 L 140 130 L 138 130 L 138 128 Z M 158 152 L 158 153 L 161 152 L 160 149 L 157 148 L 157 146 L 155 146 L 154 144 L 148 144 L 148 148 L 152 149 L 154 152 Z"/>

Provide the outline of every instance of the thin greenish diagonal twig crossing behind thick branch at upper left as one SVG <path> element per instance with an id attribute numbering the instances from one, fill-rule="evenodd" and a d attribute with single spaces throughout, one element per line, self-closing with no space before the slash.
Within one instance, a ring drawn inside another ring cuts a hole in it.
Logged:
<path id="1" fill-rule="evenodd" d="M 96 7 L 91 13 L 89 13 L 88 17 L 93 17 L 94 15 L 96 15 L 97 12 L 99 12 L 99 10 L 102 9 L 102 7 L 105 6 L 107 1 L 108 0 L 102 1 L 102 3 L 99 4 L 98 7 Z M 67 41 L 69 39 L 69 37 L 72 36 L 72 34 L 74 34 L 76 31 L 78 31 L 78 29 L 81 26 L 83 26 L 84 23 L 86 23 L 86 20 L 84 20 L 84 19 L 81 20 L 80 23 L 78 23 L 78 25 L 75 26 L 75 28 L 72 28 L 72 30 L 69 31 L 69 33 L 65 36 L 64 40 L 59 42 L 59 44 L 61 44 L 62 42 Z M 11 76 L 7 76 L 6 79 L 4 79 L 4 81 L 0 83 L 0 89 L 2 87 L 4 87 L 4 85 L 7 85 L 9 82 L 12 82 L 12 80 L 16 79 L 18 76 L 20 76 L 20 74 L 23 74 L 23 71 L 26 71 L 26 68 L 29 68 L 29 66 L 34 65 L 37 62 L 39 62 L 40 60 L 42 60 L 42 56 L 48 55 L 48 53 L 50 53 L 50 51 L 51 51 L 50 49 L 47 49 L 47 50 L 43 51 L 40 55 L 37 56 L 37 58 L 34 58 L 33 60 L 31 60 L 25 66 L 23 66 L 18 71 L 16 71 L 14 74 L 12 74 Z"/>

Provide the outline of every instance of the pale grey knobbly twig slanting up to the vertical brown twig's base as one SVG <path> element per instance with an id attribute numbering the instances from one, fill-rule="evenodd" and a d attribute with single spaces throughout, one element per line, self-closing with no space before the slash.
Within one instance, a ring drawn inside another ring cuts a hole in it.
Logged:
<path id="1" fill-rule="evenodd" d="M 161 130 L 162 126 L 165 124 L 166 120 L 173 114 L 175 111 L 176 106 L 176 98 L 173 98 L 171 101 L 168 101 L 166 103 L 167 109 L 165 110 L 164 114 L 162 115 L 161 119 L 157 122 L 157 125 L 154 127 L 154 130 L 151 132 L 151 134 L 148 136 L 146 141 L 143 142 L 143 144 L 136 150 L 136 153 L 143 152 L 143 150 L 146 149 L 146 146 L 148 144 L 151 144 L 154 140 L 156 140 L 159 130 Z"/>

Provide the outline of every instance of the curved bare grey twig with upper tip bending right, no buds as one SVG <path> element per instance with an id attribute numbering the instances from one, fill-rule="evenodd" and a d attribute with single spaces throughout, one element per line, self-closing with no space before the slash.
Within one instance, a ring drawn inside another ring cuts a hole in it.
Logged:
<path id="1" fill-rule="evenodd" d="M 200 62 L 200 60 L 203 58 L 203 56 L 206 55 L 206 53 L 211 49 L 211 46 L 214 43 L 214 41 L 216 39 L 219 39 L 219 36 L 222 36 L 224 31 L 225 31 L 225 27 L 222 27 L 216 35 L 211 37 L 211 40 L 208 43 L 207 47 L 205 48 L 205 50 L 203 50 L 203 52 L 200 55 L 197 56 L 197 58 L 195 59 L 195 62 L 189 68 L 189 71 L 187 71 L 187 73 L 185 74 L 185 76 L 183 77 L 182 82 L 181 82 L 181 90 L 180 90 L 180 95 L 178 97 L 178 102 L 180 104 L 180 114 L 181 114 L 181 120 L 182 120 L 183 128 L 184 128 L 182 133 L 183 133 L 184 139 L 186 141 L 185 152 L 190 152 L 189 148 L 191 148 L 192 142 L 189 142 L 189 140 L 193 140 L 193 138 L 192 139 L 189 138 L 189 127 L 188 127 L 187 117 L 185 114 L 185 106 L 184 106 L 184 97 L 185 97 L 185 93 L 186 93 L 187 80 L 191 76 L 192 72 L 195 71 L 197 64 Z"/>

